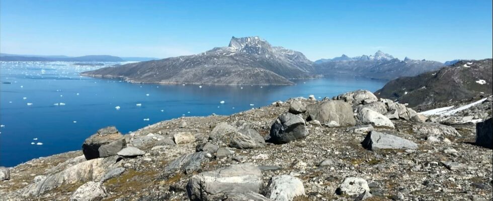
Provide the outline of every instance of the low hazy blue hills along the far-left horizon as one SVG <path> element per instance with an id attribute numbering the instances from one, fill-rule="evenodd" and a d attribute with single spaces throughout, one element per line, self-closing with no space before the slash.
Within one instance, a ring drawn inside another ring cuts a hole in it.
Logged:
<path id="1" fill-rule="evenodd" d="M 122 61 L 149 61 L 157 60 L 150 57 L 117 57 L 110 55 L 87 55 L 80 57 L 68 57 L 63 55 L 18 55 L 0 53 L 0 61 L 75 61 L 75 62 L 122 62 Z"/>

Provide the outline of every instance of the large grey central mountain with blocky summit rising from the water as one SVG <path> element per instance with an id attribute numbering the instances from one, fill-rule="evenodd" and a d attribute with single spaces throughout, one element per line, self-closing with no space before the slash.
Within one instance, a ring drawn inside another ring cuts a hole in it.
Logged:
<path id="1" fill-rule="evenodd" d="M 311 77 L 313 62 L 302 53 L 271 46 L 259 37 L 232 37 L 226 47 L 204 53 L 101 68 L 81 74 L 143 83 L 293 84 Z"/>

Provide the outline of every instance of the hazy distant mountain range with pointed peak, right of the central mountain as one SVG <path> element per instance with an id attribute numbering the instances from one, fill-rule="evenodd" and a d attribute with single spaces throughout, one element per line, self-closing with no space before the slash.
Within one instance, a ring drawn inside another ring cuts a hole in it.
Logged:
<path id="1" fill-rule="evenodd" d="M 343 55 L 336 58 L 325 62 L 318 60 L 314 64 L 313 72 L 322 75 L 348 74 L 391 80 L 401 76 L 415 76 L 444 66 L 443 63 L 437 61 L 414 60 L 408 57 L 401 61 L 382 51 L 377 51 L 370 56 L 362 55 L 350 58 Z"/>

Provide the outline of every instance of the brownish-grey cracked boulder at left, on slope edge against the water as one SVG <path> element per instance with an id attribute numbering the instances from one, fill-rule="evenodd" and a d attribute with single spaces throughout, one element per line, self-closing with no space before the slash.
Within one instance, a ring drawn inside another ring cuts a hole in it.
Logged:
<path id="1" fill-rule="evenodd" d="M 114 126 L 102 128 L 84 141 L 82 151 L 87 160 L 117 155 L 127 146 L 123 135 Z"/>

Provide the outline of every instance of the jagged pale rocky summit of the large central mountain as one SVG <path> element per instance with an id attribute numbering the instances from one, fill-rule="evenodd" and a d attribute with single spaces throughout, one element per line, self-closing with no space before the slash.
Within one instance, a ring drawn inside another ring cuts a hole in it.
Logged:
<path id="1" fill-rule="evenodd" d="M 233 36 L 228 47 L 236 52 L 251 54 L 264 54 L 272 51 L 271 44 L 258 36 L 243 38 L 236 38 Z"/>

